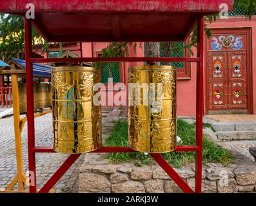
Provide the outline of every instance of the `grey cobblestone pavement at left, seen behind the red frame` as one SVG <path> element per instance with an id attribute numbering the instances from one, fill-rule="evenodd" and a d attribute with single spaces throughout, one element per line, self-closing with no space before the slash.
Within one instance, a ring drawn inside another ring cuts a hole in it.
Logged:
<path id="1" fill-rule="evenodd" d="M 28 171 L 27 153 L 27 127 L 25 125 L 22 136 L 23 163 L 25 171 Z M 35 118 L 35 145 L 52 147 L 52 114 Z M 54 174 L 56 169 L 68 158 L 68 154 L 37 153 L 37 187 L 41 188 L 44 183 Z M 79 166 L 83 163 L 81 155 L 77 162 L 64 174 L 55 185 L 55 192 L 77 192 L 77 178 Z M 6 188 L 16 174 L 14 122 L 13 117 L 0 120 L 0 188 Z M 17 185 L 16 185 L 17 188 Z"/>

